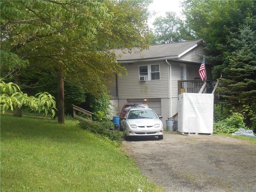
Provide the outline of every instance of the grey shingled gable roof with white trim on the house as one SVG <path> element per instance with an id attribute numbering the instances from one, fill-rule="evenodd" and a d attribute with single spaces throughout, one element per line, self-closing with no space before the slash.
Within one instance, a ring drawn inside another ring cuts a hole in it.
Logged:
<path id="1" fill-rule="evenodd" d="M 197 47 L 199 44 L 206 46 L 204 40 L 192 40 L 186 42 L 168 43 L 151 45 L 149 49 L 139 52 L 138 48 L 133 48 L 132 52 L 128 50 L 115 50 L 116 60 L 121 63 L 142 61 L 142 60 L 162 60 L 162 59 L 177 59 Z M 125 53 L 124 53 L 125 51 Z M 122 57 L 120 57 L 120 54 Z"/>

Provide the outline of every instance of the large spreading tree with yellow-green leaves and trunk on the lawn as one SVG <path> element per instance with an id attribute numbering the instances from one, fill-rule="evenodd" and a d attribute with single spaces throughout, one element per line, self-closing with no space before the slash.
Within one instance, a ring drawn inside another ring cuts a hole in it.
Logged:
<path id="1" fill-rule="evenodd" d="M 64 123 L 64 80 L 97 95 L 124 68 L 111 48 L 147 48 L 147 6 L 136 0 L 1 1 L 1 51 L 26 68 L 58 77 L 58 122 Z M 2 70 L 2 69 L 1 69 Z M 5 70 L 2 74 L 10 72 Z M 14 74 L 14 73 L 12 73 Z M 22 73 L 16 77 L 22 78 Z M 16 78 L 20 83 L 22 79 Z"/>

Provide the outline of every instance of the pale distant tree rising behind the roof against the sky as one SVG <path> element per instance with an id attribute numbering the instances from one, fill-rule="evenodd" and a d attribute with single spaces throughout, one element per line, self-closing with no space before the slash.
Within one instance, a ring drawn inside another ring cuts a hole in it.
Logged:
<path id="1" fill-rule="evenodd" d="M 182 42 L 195 39 L 186 24 L 175 12 L 166 12 L 166 17 L 158 17 L 154 25 L 154 44 Z"/>

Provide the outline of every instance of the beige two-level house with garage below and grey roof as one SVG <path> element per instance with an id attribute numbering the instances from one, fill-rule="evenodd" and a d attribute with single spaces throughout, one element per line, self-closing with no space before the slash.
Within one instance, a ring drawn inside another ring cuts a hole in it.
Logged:
<path id="1" fill-rule="evenodd" d="M 202 86 L 198 70 L 206 55 L 205 46 L 203 40 L 192 40 L 152 45 L 142 52 L 115 50 L 128 74 L 110 86 L 113 115 L 126 102 L 142 102 L 163 116 L 166 127 L 165 120 L 178 113 L 178 94 L 191 88 L 199 92 Z M 206 60 L 205 65 L 207 79 L 211 79 L 212 64 Z"/>

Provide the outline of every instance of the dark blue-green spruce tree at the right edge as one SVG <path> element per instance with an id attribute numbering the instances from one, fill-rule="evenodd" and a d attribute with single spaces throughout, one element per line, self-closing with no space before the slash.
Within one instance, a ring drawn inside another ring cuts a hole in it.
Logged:
<path id="1" fill-rule="evenodd" d="M 250 124 L 250 118 L 256 118 L 256 32 L 248 26 L 239 32 L 237 39 L 230 40 L 235 51 L 230 53 L 228 66 L 222 70 L 221 91 L 230 108 L 244 110 Z"/>

